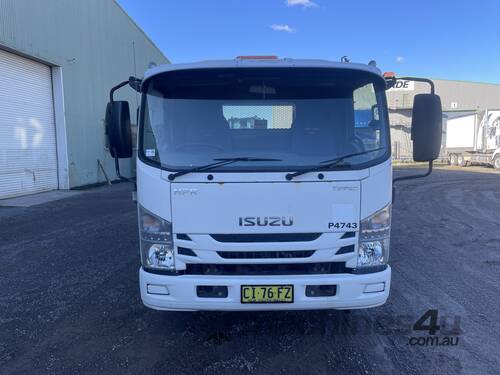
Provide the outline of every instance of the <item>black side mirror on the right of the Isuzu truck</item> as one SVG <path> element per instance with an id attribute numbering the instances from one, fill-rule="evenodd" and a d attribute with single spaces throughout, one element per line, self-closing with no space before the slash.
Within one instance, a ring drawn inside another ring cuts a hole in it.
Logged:
<path id="1" fill-rule="evenodd" d="M 442 122 L 441 98 L 435 94 L 415 95 L 411 121 L 413 160 L 437 159 L 441 151 Z"/>

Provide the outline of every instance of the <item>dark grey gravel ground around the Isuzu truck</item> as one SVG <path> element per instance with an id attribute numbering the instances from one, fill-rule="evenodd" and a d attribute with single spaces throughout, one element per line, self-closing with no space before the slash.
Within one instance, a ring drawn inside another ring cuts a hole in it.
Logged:
<path id="1" fill-rule="evenodd" d="M 498 373 L 500 174 L 401 183 L 393 215 L 382 307 L 167 313 L 140 301 L 127 184 L 0 208 L 0 373 Z M 429 309 L 457 345 L 412 345 Z"/>

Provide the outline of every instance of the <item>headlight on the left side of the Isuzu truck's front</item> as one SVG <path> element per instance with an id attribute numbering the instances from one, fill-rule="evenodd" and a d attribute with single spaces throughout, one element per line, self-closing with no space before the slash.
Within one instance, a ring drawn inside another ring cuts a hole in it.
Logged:
<path id="1" fill-rule="evenodd" d="M 174 271 L 172 224 L 139 205 L 139 233 L 142 265 Z"/>

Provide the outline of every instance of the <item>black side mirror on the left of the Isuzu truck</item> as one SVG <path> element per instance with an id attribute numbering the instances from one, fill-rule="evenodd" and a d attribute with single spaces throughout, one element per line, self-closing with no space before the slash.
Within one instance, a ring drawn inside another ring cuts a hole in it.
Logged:
<path id="1" fill-rule="evenodd" d="M 106 107 L 105 123 L 111 156 L 114 158 L 130 158 L 132 156 L 132 131 L 128 102 L 109 102 Z"/>

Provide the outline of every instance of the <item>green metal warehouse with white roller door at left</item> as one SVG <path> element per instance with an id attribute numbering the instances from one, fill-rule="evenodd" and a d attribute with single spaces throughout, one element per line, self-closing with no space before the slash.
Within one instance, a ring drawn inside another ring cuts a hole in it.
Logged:
<path id="1" fill-rule="evenodd" d="M 167 58 L 114 0 L 0 0 L 0 25 L 0 199 L 115 179 L 109 89 Z"/>

